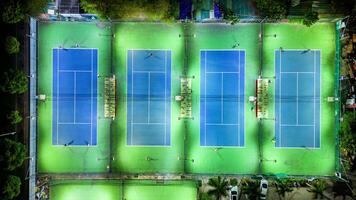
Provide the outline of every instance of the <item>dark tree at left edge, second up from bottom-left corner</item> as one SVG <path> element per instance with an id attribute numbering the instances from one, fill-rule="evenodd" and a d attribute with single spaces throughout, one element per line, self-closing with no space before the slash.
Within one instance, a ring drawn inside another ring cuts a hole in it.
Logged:
<path id="1" fill-rule="evenodd" d="M 27 155 L 22 143 L 7 138 L 1 139 L 0 148 L 0 165 L 4 170 L 12 171 L 20 167 Z"/>

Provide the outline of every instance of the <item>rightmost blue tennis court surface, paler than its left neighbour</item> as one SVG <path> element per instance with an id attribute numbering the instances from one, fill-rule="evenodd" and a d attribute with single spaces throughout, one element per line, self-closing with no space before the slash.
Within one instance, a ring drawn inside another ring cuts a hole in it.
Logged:
<path id="1" fill-rule="evenodd" d="M 320 147 L 320 51 L 277 50 L 276 146 Z"/>

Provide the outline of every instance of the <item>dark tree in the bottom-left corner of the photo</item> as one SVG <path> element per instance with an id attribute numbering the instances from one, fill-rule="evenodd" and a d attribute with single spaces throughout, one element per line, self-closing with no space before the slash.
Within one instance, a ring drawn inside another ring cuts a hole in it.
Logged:
<path id="1" fill-rule="evenodd" d="M 11 200 L 20 194 L 21 180 L 17 176 L 9 175 L 1 184 L 1 199 Z"/>

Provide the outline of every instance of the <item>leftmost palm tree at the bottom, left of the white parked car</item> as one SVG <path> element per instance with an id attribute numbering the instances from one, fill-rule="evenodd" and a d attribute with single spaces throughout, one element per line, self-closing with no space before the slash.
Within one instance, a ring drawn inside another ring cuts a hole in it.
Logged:
<path id="1" fill-rule="evenodd" d="M 208 185 L 213 187 L 213 189 L 208 191 L 208 194 L 214 196 L 216 200 L 220 200 L 222 196 L 227 196 L 229 183 L 225 178 L 221 178 L 220 176 L 217 178 L 210 178 Z"/>

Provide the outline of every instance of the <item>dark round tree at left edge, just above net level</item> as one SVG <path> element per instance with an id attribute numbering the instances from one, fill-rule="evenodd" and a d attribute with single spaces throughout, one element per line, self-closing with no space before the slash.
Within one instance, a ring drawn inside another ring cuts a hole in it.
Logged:
<path id="1" fill-rule="evenodd" d="M 22 94 L 27 91 L 28 78 L 23 70 L 10 69 L 4 72 L 0 86 L 3 92 L 10 94 Z"/>

